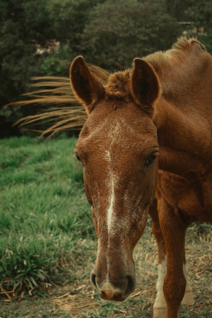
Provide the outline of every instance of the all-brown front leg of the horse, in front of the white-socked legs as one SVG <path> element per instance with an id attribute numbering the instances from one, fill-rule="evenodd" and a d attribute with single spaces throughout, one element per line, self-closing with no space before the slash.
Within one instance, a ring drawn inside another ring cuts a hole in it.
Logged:
<path id="1" fill-rule="evenodd" d="M 187 284 L 184 263 L 188 221 L 184 221 L 180 212 L 170 207 L 162 198 L 160 198 L 158 211 L 167 256 L 167 272 L 163 284 L 166 318 L 177 318 Z"/>

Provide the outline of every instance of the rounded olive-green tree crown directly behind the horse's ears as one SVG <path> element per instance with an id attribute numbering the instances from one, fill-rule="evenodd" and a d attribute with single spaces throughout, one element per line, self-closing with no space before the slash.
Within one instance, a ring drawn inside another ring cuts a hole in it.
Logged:
<path id="1" fill-rule="evenodd" d="M 90 12 L 84 55 L 103 68 L 128 67 L 135 56 L 168 49 L 180 31 L 163 1 L 107 0 Z"/>

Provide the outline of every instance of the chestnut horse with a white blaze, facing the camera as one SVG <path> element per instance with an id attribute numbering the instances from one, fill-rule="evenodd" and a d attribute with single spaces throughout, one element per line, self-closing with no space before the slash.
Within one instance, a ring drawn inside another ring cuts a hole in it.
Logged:
<path id="1" fill-rule="evenodd" d="M 212 221 L 212 57 L 180 38 L 105 86 L 81 56 L 70 74 L 88 114 L 75 155 L 98 237 L 90 279 L 103 299 L 132 293 L 133 249 L 149 213 L 159 253 L 154 317 L 176 318 L 181 302 L 194 302 L 186 229 Z"/>

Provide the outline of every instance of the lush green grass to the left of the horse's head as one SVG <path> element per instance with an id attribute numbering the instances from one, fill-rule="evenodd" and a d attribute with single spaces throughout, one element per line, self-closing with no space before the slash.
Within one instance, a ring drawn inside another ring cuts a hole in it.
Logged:
<path id="1" fill-rule="evenodd" d="M 78 241 L 94 236 L 75 143 L 0 140 L 0 289 L 8 298 L 71 281 Z"/>

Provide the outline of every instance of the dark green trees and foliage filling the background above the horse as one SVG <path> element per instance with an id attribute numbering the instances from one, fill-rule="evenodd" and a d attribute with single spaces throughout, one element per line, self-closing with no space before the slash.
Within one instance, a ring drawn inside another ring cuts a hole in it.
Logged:
<path id="1" fill-rule="evenodd" d="M 210 0 L 3 0 L 0 3 L 0 124 L 35 112 L 3 108 L 20 99 L 32 76 L 69 76 L 71 60 L 109 71 L 135 56 L 170 48 L 181 34 L 199 35 L 212 52 Z M 17 133 L 17 132 L 15 132 Z"/>

